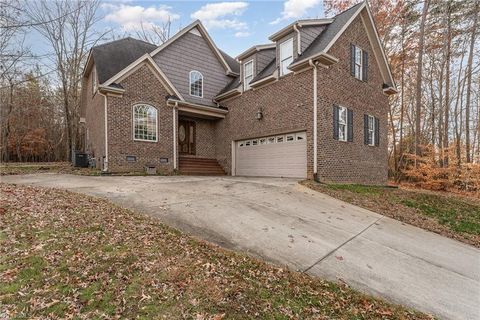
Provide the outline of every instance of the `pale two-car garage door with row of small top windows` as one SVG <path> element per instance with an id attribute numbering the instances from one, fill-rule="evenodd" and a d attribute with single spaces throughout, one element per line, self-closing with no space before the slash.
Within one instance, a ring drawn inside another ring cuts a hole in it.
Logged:
<path id="1" fill-rule="evenodd" d="M 238 176 L 307 177 L 305 132 L 241 140 L 235 148 Z"/>

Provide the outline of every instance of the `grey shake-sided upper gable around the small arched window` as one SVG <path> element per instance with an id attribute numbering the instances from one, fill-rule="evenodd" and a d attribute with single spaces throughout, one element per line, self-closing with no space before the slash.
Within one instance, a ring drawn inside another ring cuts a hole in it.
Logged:
<path id="1" fill-rule="evenodd" d="M 232 79 L 225 74 L 206 39 L 191 32 L 172 42 L 153 59 L 183 98 L 192 103 L 214 106 L 213 97 Z M 192 70 L 203 75 L 203 98 L 190 96 L 189 73 Z"/>

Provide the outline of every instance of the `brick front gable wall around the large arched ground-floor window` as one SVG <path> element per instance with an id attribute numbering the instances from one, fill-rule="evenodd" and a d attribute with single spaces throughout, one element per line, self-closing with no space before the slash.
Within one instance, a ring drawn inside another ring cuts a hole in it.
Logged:
<path id="1" fill-rule="evenodd" d="M 158 172 L 173 170 L 173 113 L 167 106 L 166 89 L 147 65 L 120 82 L 125 89 L 123 97 L 108 97 L 108 160 L 112 172 L 143 171 L 153 164 Z M 134 141 L 133 105 L 146 103 L 157 108 L 158 142 Z M 136 162 L 127 162 L 126 156 L 136 156 Z M 161 163 L 167 158 L 168 163 Z"/>

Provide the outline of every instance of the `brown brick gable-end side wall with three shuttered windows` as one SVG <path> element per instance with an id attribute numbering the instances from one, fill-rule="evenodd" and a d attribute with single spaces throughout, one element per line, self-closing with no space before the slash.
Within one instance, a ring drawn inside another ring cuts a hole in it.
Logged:
<path id="1" fill-rule="evenodd" d="M 369 55 L 368 81 L 350 74 L 350 43 Z M 387 182 L 388 98 L 365 28 L 357 17 L 329 51 L 340 61 L 320 68 L 318 77 L 318 175 L 325 182 L 385 184 Z M 333 104 L 353 110 L 353 142 L 333 139 Z M 364 114 L 380 119 L 380 145 L 364 144 Z"/>

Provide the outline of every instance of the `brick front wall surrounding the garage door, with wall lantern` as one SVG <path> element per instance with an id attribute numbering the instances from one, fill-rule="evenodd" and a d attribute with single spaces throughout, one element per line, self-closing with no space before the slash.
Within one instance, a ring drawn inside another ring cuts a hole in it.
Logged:
<path id="1" fill-rule="evenodd" d="M 231 174 L 231 142 L 292 131 L 307 131 L 307 174 L 313 175 L 312 71 L 293 75 L 240 97 L 222 102 L 228 107 L 225 119 L 216 127 L 217 159 Z M 255 115 L 262 109 L 263 118 Z"/>

